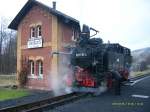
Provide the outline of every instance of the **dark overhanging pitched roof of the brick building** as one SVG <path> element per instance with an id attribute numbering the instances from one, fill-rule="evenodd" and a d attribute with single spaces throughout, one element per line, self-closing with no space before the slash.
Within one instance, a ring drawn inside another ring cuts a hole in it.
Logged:
<path id="1" fill-rule="evenodd" d="M 9 24 L 9 28 L 17 30 L 18 29 L 18 25 L 20 24 L 20 22 L 22 21 L 22 19 L 25 17 L 25 15 L 32 9 L 33 6 L 39 6 L 41 8 L 43 8 L 44 10 L 48 11 L 49 13 L 55 15 L 58 17 L 59 20 L 61 20 L 62 22 L 72 25 L 74 28 L 78 29 L 80 31 L 80 25 L 79 25 L 79 21 L 66 15 L 63 14 L 60 11 L 57 11 L 53 8 L 50 8 L 36 0 L 28 0 L 28 2 L 24 5 L 24 7 L 20 10 L 20 12 L 16 15 L 16 17 L 13 19 L 13 21 Z"/>

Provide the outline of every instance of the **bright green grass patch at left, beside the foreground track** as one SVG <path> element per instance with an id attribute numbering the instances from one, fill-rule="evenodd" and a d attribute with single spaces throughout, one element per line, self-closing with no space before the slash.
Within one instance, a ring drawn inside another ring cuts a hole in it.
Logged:
<path id="1" fill-rule="evenodd" d="M 26 89 L 0 88 L 0 101 L 20 98 L 29 95 Z"/>

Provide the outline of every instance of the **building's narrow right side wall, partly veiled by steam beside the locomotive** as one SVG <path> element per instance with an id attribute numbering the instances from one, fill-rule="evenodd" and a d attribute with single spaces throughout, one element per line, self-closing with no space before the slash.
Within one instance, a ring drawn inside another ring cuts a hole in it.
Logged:
<path id="1" fill-rule="evenodd" d="M 66 75 L 69 74 L 69 62 L 70 55 L 63 54 L 69 52 L 67 46 L 72 42 L 72 26 L 66 25 L 64 23 L 58 22 L 58 49 L 60 53 L 58 55 L 58 78 L 60 78 L 60 83 L 65 79 Z M 63 83 L 63 82 L 62 82 Z"/>

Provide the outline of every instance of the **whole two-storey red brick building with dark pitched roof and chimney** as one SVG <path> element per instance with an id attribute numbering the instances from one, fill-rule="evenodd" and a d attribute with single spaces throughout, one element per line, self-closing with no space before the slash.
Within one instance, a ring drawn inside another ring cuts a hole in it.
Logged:
<path id="1" fill-rule="evenodd" d="M 27 87 L 51 89 L 49 78 L 59 75 L 63 64 L 63 58 L 52 53 L 68 52 L 80 32 L 79 21 L 57 11 L 56 2 L 50 8 L 29 0 L 9 28 L 18 34 L 17 75 L 22 69 L 22 60 L 26 59 L 29 62 Z"/>

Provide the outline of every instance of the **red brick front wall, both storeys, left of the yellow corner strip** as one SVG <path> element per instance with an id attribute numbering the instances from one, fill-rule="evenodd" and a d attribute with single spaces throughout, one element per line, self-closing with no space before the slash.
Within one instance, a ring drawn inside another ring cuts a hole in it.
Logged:
<path id="1" fill-rule="evenodd" d="M 42 48 L 27 48 L 27 42 L 30 38 L 30 28 L 36 25 L 42 27 Z M 43 78 L 28 78 L 27 86 L 34 89 L 50 89 L 49 75 L 51 69 L 51 40 L 52 40 L 52 15 L 44 11 L 38 6 L 33 7 L 24 17 L 21 24 L 21 56 L 33 60 L 43 61 Z M 34 64 L 36 69 L 36 64 Z M 35 75 L 37 75 L 35 70 Z"/>

